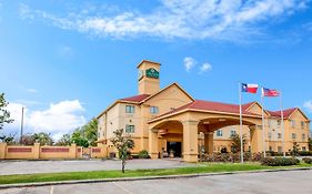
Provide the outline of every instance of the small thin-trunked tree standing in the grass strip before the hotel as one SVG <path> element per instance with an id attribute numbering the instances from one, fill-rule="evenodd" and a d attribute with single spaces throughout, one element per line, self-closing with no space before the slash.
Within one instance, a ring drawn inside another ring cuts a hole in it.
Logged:
<path id="1" fill-rule="evenodd" d="M 130 150 L 134 147 L 134 142 L 124 135 L 123 129 L 115 130 L 113 134 L 114 136 L 111 142 L 118 150 L 119 159 L 121 160 L 121 172 L 124 173 L 125 161 L 128 160 Z"/>

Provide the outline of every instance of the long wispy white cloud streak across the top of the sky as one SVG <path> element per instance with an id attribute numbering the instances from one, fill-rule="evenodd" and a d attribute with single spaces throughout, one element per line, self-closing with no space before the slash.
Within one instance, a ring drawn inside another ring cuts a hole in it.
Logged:
<path id="1" fill-rule="evenodd" d="M 58 17 L 20 6 L 23 19 L 41 19 L 51 25 L 99 37 L 151 35 L 161 38 L 244 40 L 261 34 L 259 23 L 288 17 L 306 8 L 309 0 L 161 0 L 149 13 L 139 11 L 103 16 L 88 11 Z"/>

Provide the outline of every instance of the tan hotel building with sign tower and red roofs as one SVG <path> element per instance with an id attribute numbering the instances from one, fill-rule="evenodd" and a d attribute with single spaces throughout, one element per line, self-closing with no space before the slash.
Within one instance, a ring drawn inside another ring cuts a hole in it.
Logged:
<path id="1" fill-rule="evenodd" d="M 152 159 L 174 151 L 183 161 L 197 162 L 207 153 L 231 151 L 230 136 L 239 133 L 239 104 L 195 100 L 178 83 L 160 89 L 160 63 L 143 60 L 138 65 L 138 94 L 119 99 L 98 115 L 98 142 L 112 146 L 113 131 L 124 129 L 134 141 L 133 153 L 147 150 Z M 251 152 L 263 152 L 262 108 L 258 102 L 242 105 L 243 134 Z M 310 120 L 299 109 L 284 113 L 285 151 L 300 145 L 308 150 Z M 282 152 L 281 112 L 264 111 L 265 150 Z M 201 149 L 203 147 L 203 149 Z"/>

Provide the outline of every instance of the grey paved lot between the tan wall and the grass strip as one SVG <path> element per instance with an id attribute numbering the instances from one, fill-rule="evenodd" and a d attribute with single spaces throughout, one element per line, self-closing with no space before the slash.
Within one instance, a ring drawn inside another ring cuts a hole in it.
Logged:
<path id="1" fill-rule="evenodd" d="M 172 169 L 191 166 L 195 164 L 180 162 L 179 160 L 130 160 L 127 170 L 139 169 Z M 0 175 L 81 172 L 81 171 L 108 171 L 120 170 L 121 161 L 90 160 L 90 161 L 1 161 Z"/>

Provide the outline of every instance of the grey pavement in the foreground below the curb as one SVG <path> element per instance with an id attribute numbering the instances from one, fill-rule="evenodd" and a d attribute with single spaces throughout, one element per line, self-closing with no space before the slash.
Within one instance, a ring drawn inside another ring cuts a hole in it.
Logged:
<path id="1" fill-rule="evenodd" d="M 312 171 L 250 173 L 0 190 L 18 194 L 311 194 Z"/>

